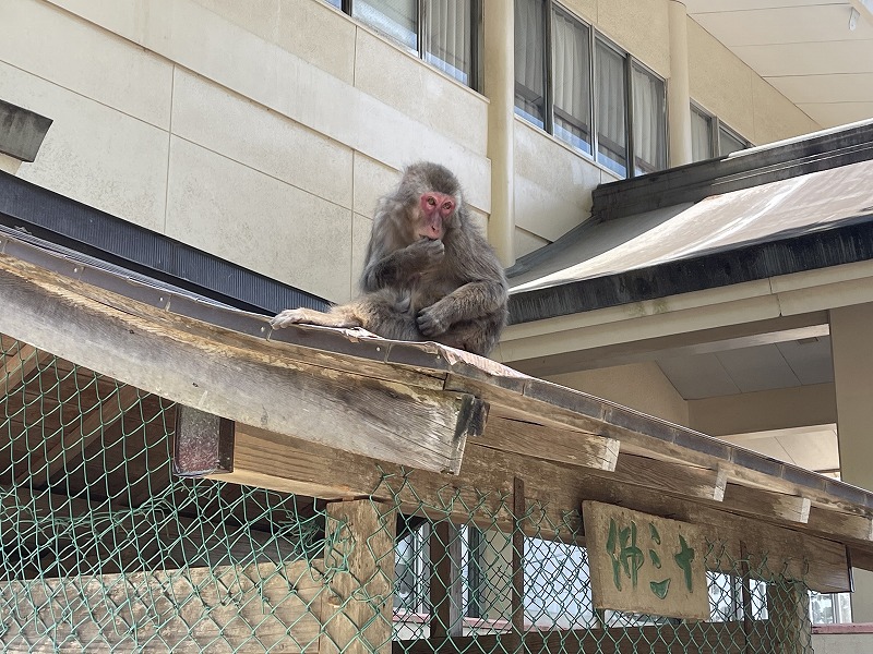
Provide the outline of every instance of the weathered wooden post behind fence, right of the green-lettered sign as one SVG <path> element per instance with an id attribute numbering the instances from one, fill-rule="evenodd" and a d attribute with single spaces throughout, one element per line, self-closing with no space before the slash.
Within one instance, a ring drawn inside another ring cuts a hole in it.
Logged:
<path id="1" fill-rule="evenodd" d="M 767 609 L 776 654 L 812 652 L 810 594 L 805 584 L 781 580 L 767 586 Z"/>

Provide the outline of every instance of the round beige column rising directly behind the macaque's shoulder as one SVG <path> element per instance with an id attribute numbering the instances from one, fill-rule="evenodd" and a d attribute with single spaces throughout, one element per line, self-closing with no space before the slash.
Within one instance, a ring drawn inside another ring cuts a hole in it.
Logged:
<path id="1" fill-rule="evenodd" d="M 515 3 L 483 2 L 485 95 L 491 217 L 488 240 L 504 266 L 515 263 Z"/>

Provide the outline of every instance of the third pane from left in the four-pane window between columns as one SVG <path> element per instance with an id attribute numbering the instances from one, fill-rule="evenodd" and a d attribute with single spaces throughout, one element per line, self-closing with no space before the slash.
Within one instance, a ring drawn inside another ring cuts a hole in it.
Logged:
<path id="1" fill-rule="evenodd" d="M 624 57 L 597 41 L 596 62 L 597 160 L 620 175 L 627 177 Z"/>

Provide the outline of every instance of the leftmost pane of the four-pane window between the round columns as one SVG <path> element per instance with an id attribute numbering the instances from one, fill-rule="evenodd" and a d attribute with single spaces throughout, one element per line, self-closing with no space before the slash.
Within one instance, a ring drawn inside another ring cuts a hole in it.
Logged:
<path id="1" fill-rule="evenodd" d="M 515 112 L 546 126 L 546 3 L 515 0 Z"/>

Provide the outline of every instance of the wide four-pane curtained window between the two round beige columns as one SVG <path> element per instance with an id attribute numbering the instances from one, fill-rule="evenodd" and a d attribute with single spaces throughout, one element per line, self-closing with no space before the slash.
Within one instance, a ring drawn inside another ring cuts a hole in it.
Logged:
<path id="1" fill-rule="evenodd" d="M 663 80 L 548 0 L 515 0 L 515 112 L 622 177 L 667 167 Z M 633 166 L 630 166 L 633 161 Z"/>

